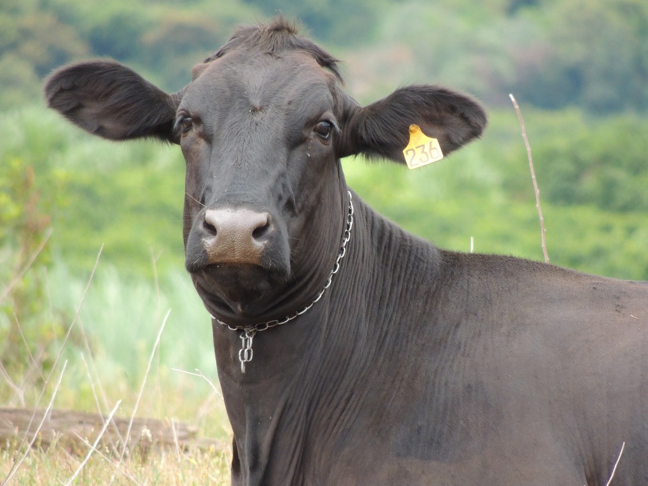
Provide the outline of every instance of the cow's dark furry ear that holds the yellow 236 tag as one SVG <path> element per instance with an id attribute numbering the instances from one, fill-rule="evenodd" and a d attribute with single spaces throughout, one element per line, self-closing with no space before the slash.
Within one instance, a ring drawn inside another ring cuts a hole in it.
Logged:
<path id="1" fill-rule="evenodd" d="M 480 136 L 486 114 L 473 98 L 437 86 L 408 86 L 364 108 L 347 102 L 339 154 L 387 157 L 405 163 L 410 125 L 438 139 L 443 154 Z"/>

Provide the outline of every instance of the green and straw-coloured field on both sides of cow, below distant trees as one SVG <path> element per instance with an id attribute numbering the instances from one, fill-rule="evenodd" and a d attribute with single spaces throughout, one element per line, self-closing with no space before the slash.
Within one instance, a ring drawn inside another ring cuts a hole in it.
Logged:
<path id="1" fill-rule="evenodd" d="M 543 130 L 555 134 L 570 126 L 573 132 L 581 123 L 569 113 L 557 117 L 531 111 L 529 118 L 536 139 Z M 141 430 L 126 441 L 128 434 L 111 435 L 113 424 L 106 422 L 106 437 L 94 450 L 91 444 L 103 422 L 70 446 L 65 427 L 43 437 L 45 428 L 38 429 L 35 420 L 29 434 L 22 429 L 3 439 L 0 474 L 10 476 L 5 483 L 51 484 L 52 478 L 62 484 L 73 478 L 80 484 L 229 483 L 231 431 L 213 386 L 210 319 L 182 271 L 178 154 L 151 143 L 108 150 L 108 143 L 64 132 L 51 113 L 41 110 L 25 110 L 17 120 L 14 137 L 2 146 L 5 160 L 15 164 L 3 167 L 0 177 L 14 184 L 5 194 L 15 191 L 17 207 L 16 213 L 3 213 L 5 233 L 0 235 L 5 238 L 0 259 L 15 261 L 3 273 L 8 284 L 0 288 L 0 403 L 94 413 L 104 420 L 114 413 L 113 422 L 127 424 L 131 417 L 158 419 L 171 430 L 191 429 L 196 439 L 172 439 L 143 453 L 133 447 Z M 483 141 L 415 174 L 347 160 L 349 184 L 378 211 L 445 248 L 467 251 L 474 236 L 476 251 L 541 259 L 535 198 L 515 114 L 494 113 L 491 120 Z M 628 131 L 610 119 L 594 126 L 594 136 L 610 127 Z M 564 176 L 547 176 L 559 170 L 548 165 L 554 161 L 555 137 L 551 143 L 540 140 L 535 151 L 540 188 L 556 192 L 551 184 Z M 634 142 L 625 145 L 626 152 L 630 146 L 635 152 L 642 149 L 643 143 Z M 623 144 L 623 137 L 614 143 Z M 88 154 L 98 154 L 98 168 L 84 167 Z M 631 157 L 629 152 L 623 161 L 631 163 Z M 40 180 L 29 185 L 32 167 Z M 636 202 L 641 178 L 627 177 L 625 192 Z M 63 202 L 57 200 L 61 194 Z M 645 279 L 643 203 L 622 211 L 620 199 L 608 200 L 618 205 L 616 210 L 557 199 L 542 202 L 552 262 Z M 110 218 L 97 224 L 96 215 L 107 214 L 106 207 Z M 48 224 L 38 226 L 38 218 Z M 35 448 L 29 447 L 32 441 Z M 128 454 L 122 458 L 124 449 Z"/>

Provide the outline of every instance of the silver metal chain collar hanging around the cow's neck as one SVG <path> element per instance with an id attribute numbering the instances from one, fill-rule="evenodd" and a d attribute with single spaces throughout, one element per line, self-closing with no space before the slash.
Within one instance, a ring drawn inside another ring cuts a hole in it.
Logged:
<path id="1" fill-rule="evenodd" d="M 347 191 L 347 194 L 349 194 L 349 214 L 347 214 L 347 227 L 344 230 L 344 233 L 342 235 L 342 244 L 340 246 L 340 251 L 338 251 L 338 258 L 335 260 L 335 263 L 333 264 L 333 270 L 331 270 L 329 274 L 329 279 L 327 280 L 327 283 L 324 285 L 324 288 L 319 291 L 319 294 L 317 297 L 315 297 L 314 301 L 312 301 L 303 309 L 295 312 L 295 314 L 292 314 L 292 316 L 288 316 L 287 318 L 283 318 L 281 320 L 273 319 L 272 321 L 262 322 L 259 324 L 255 324 L 251 327 L 231 326 L 221 321 L 220 319 L 211 316 L 212 319 L 215 319 L 217 323 L 219 323 L 220 325 L 227 326 L 228 329 L 243 331 L 239 336 L 242 343 L 241 343 L 241 349 L 238 351 L 238 361 L 240 361 L 241 364 L 241 373 L 245 373 L 245 364 L 250 362 L 252 360 L 252 357 L 254 356 L 254 352 L 252 350 L 252 340 L 255 334 L 257 334 L 257 332 L 261 332 L 262 330 L 267 330 L 272 327 L 280 326 L 289 321 L 292 321 L 292 319 L 295 319 L 297 316 L 301 316 L 301 314 L 304 314 L 304 312 L 307 312 L 308 309 L 313 307 L 313 305 L 317 301 L 319 301 L 319 299 L 321 299 L 321 296 L 324 295 L 324 292 L 327 290 L 327 288 L 330 287 L 330 283 L 332 281 L 333 275 L 338 273 L 338 270 L 340 270 L 340 260 L 343 259 L 344 255 L 346 255 L 347 243 L 351 239 L 351 227 L 353 226 L 353 203 L 351 202 L 351 192 Z"/>

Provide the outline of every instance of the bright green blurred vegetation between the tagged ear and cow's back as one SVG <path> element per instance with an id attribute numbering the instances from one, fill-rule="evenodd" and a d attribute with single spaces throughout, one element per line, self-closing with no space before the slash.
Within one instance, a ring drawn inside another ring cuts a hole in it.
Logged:
<path id="1" fill-rule="evenodd" d="M 347 161 L 347 179 L 391 220 L 443 248 L 542 259 L 540 226 L 517 118 L 491 113 L 481 141 L 408 171 Z M 526 110 L 551 262 L 648 280 L 648 121 Z M 602 195 L 601 193 L 605 195 Z"/>

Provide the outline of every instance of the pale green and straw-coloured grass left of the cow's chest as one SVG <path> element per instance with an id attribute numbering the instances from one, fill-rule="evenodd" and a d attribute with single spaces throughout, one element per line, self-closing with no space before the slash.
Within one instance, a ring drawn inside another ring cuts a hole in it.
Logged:
<path id="1" fill-rule="evenodd" d="M 65 332 L 45 353 L 24 343 L 29 364 L 5 369 L 0 404 L 93 412 L 103 417 L 104 430 L 116 417 L 185 422 L 199 438 L 216 441 L 186 446 L 176 440 L 143 453 L 132 446 L 134 433 L 106 444 L 99 442 L 102 432 L 93 435 L 96 449 L 91 437 L 78 437 L 71 447 L 62 434 L 42 442 L 36 419 L 30 428 L 36 434 L 20 432 L 0 444 L 1 485 L 229 484 L 231 430 L 213 384 L 209 316 L 183 277 L 133 282 L 99 264 L 83 283 L 62 264 L 54 266 L 47 275 L 49 307 L 52 316 L 67 316 Z"/>

